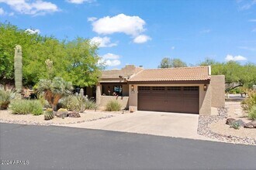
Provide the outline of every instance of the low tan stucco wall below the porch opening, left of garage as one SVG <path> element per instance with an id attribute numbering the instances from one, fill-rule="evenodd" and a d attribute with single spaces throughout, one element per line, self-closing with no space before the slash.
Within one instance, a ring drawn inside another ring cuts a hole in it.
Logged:
<path id="1" fill-rule="evenodd" d="M 104 109 L 106 107 L 106 104 L 108 104 L 109 101 L 111 100 L 117 100 L 119 104 L 121 104 L 122 109 L 128 108 L 129 97 L 113 97 L 113 96 L 101 96 L 99 107 L 101 109 Z"/>

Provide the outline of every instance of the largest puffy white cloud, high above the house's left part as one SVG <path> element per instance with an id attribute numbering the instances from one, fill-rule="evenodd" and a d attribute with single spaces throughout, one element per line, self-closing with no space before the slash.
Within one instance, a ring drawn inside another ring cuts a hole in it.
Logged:
<path id="1" fill-rule="evenodd" d="M 103 17 L 92 22 L 93 31 L 99 34 L 123 32 L 126 35 L 137 36 L 144 32 L 146 22 L 139 16 L 119 14 L 113 17 Z"/>

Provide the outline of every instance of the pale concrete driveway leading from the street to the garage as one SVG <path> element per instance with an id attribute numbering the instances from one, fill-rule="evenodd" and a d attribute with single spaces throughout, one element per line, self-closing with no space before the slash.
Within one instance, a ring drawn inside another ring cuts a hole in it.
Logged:
<path id="1" fill-rule="evenodd" d="M 112 115 L 114 117 L 64 126 L 213 141 L 197 134 L 198 114 L 137 111 L 133 114 Z"/>

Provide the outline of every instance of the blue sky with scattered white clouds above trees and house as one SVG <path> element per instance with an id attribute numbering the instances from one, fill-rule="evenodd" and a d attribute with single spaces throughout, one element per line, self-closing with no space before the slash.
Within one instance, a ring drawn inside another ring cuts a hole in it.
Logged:
<path id="1" fill-rule="evenodd" d="M 163 57 L 195 65 L 256 63 L 256 0 L 0 0 L 0 22 L 57 39 L 99 43 L 108 69 L 156 68 Z"/>

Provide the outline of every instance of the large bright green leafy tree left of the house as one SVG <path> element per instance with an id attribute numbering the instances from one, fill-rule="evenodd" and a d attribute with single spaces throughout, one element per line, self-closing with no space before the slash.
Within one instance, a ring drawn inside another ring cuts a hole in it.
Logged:
<path id="1" fill-rule="evenodd" d="M 102 70 L 98 63 L 98 47 L 89 39 L 77 38 L 60 41 L 50 36 L 29 34 L 11 24 L 0 22 L 0 82 L 14 82 L 13 56 L 16 44 L 22 46 L 23 84 L 34 85 L 40 79 L 55 76 L 71 81 L 75 86 L 95 85 Z M 46 60 L 53 62 L 47 70 Z"/>

